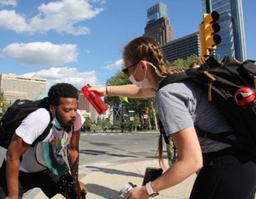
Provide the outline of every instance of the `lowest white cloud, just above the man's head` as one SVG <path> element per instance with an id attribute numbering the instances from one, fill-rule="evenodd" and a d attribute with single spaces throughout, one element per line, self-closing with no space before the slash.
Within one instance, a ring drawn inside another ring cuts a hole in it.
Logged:
<path id="1" fill-rule="evenodd" d="M 37 72 L 29 72 L 23 74 L 29 77 L 37 76 L 46 78 L 48 80 L 48 87 L 58 82 L 68 82 L 79 90 L 81 87 L 89 83 L 90 85 L 96 85 L 97 77 L 96 72 L 79 72 L 77 68 L 50 68 L 48 70 L 39 70 Z"/>

